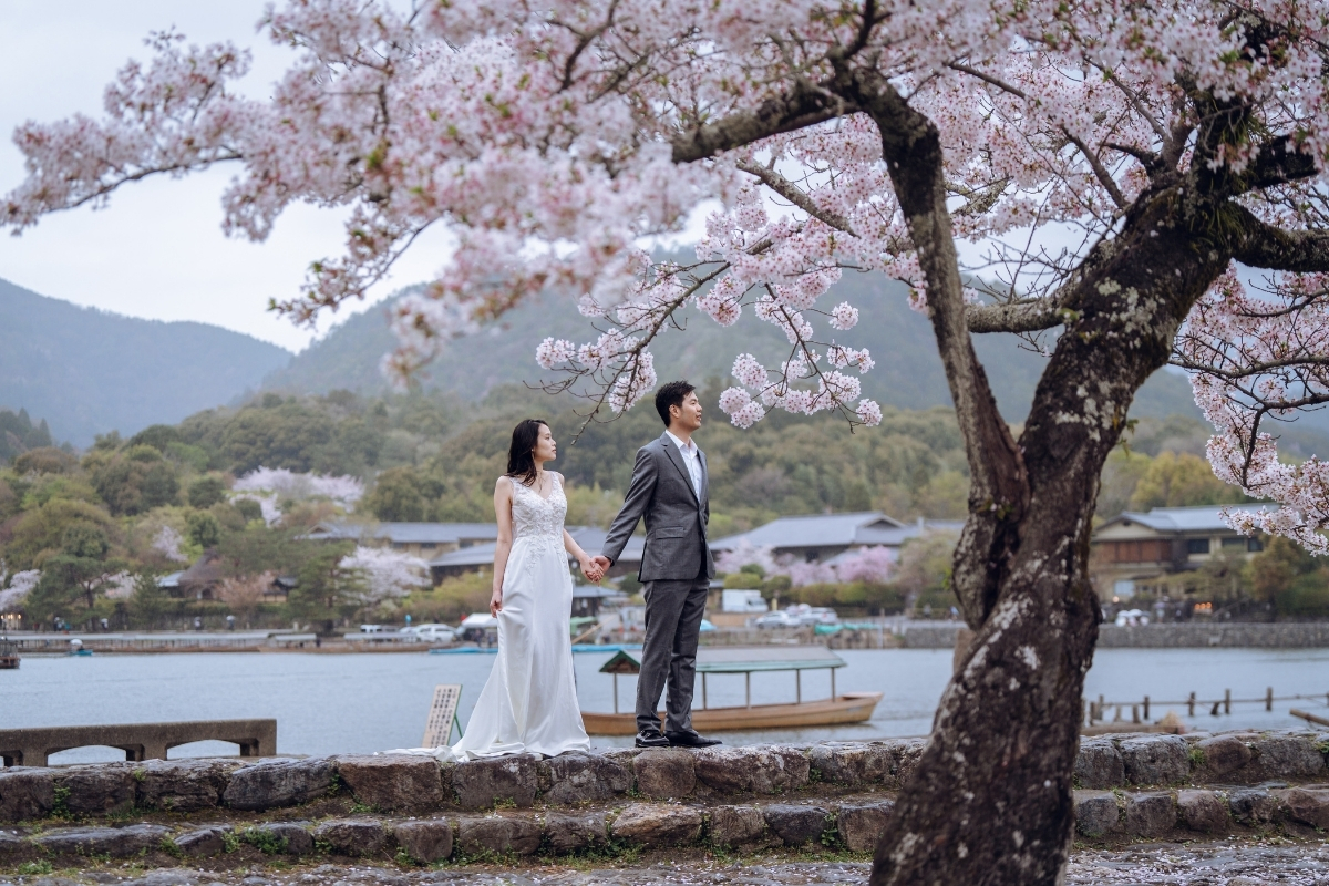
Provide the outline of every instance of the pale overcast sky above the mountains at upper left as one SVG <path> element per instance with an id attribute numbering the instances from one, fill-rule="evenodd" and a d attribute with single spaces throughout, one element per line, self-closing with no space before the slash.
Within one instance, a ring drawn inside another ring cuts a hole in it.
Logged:
<path id="1" fill-rule="evenodd" d="M 76 112 L 100 117 L 102 89 L 128 58 L 148 57 L 150 31 L 174 25 L 195 43 L 253 48 L 243 92 L 266 96 L 291 56 L 255 33 L 262 12 L 262 0 L 0 0 L 0 193 L 24 178 L 15 126 Z M 116 194 L 109 209 L 60 213 L 23 236 L 0 235 L 0 278 L 118 313 L 215 323 L 298 351 L 312 333 L 268 313 L 267 300 L 290 298 L 311 260 L 340 252 L 339 215 L 300 206 L 282 215 L 266 243 L 226 238 L 221 194 L 231 175 L 223 166 L 142 182 Z M 424 246 L 375 298 L 445 262 L 441 242 Z"/>

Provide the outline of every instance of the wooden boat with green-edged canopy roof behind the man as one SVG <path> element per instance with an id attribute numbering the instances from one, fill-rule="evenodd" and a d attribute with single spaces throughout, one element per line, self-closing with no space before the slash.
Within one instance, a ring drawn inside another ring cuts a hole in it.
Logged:
<path id="1" fill-rule="evenodd" d="M 637 735 L 634 713 L 618 709 L 618 675 L 641 673 L 641 652 L 619 650 L 601 667 L 601 673 L 614 676 L 614 712 L 582 711 L 582 723 L 593 736 Z M 702 676 L 700 707 L 692 707 L 692 725 L 699 732 L 730 732 L 735 729 L 792 729 L 824 727 L 844 723 L 863 723 L 881 701 L 880 692 L 835 691 L 835 669 L 843 668 L 844 659 L 824 646 L 758 646 L 758 647 L 703 647 L 696 652 L 696 672 Z M 803 700 L 803 671 L 831 669 L 831 697 Z M 752 673 L 763 671 L 793 671 L 796 699 L 793 704 L 752 704 Z M 747 704 L 742 707 L 712 708 L 707 704 L 706 677 L 710 673 L 743 673 L 747 679 Z M 664 712 L 661 712 L 663 719 Z"/>

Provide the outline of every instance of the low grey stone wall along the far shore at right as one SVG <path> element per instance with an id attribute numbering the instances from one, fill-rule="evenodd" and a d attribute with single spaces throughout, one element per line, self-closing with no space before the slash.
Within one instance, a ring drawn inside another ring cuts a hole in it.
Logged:
<path id="1" fill-rule="evenodd" d="M 950 650 L 962 624 L 910 627 L 900 644 L 910 650 Z M 1183 650 L 1183 648 L 1277 648 L 1304 650 L 1329 647 L 1329 622 L 1179 622 L 1099 628 L 1098 648 Z"/>

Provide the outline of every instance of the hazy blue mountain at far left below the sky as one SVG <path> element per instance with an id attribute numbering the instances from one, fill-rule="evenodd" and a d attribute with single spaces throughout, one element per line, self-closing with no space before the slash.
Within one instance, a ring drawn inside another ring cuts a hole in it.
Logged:
<path id="1" fill-rule="evenodd" d="M 221 327 L 126 317 L 0 280 L 0 408 L 27 408 L 77 446 L 229 402 L 290 359 Z"/>

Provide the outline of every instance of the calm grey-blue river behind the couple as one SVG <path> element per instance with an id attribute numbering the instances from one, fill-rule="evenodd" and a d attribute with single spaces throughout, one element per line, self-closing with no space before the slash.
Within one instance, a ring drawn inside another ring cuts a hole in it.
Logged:
<path id="1" fill-rule="evenodd" d="M 743 732 L 723 736 L 730 744 L 876 739 L 925 735 L 950 676 L 949 650 L 844 650 L 848 667 L 836 688 L 882 692 L 873 719 L 861 725 Z M 611 679 L 597 669 L 609 654 L 575 656 L 582 708 L 611 711 Z M 465 723 L 492 655 L 428 654 L 159 654 L 86 658 L 27 656 L 17 671 L 0 671 L 0 728 L 275 717 L 282 753 L 330 754 L 415 747 L 424 733 L 437 683 L 461 683 Z M 631 708 L 634 677 L 619 677 L 619 705 Z M 712 707 L 743 704 L 742 675 L 708 677 Z M 1237 704 L 1229 716 L 1174 708 L 1192 729 L 1290 728 L 1305 721 L 1288 715 L 1297 707 L 1325 715 L 1329 650 L 1100 650 L 1090 671 L 1086 696 L 1110 701 L 1140 699 L 1263 699 L 1317 695 L 1318 701 L 1278 701 L 1272 713 L 1263 704 Z M 831 692 L 827 672 L 804 672 L 803 697 Z M 752 701 L 792 701 L 793 673 L 755 673 Z M 700 703 L 700 687 L 698 687 Z M 1152 719 L 1164 713 L 1155 704 Z M 1130 712 L 1126 713 L 1130 719 Z M 456 740 L 456 736 L 453 736 Z M 593 737 L 599 747 L 630 739 Z M 177 756 L 234 753 L 234 745 L 198 743 Z M 124 758 L 118 751 L 82 748 L 52 762 Z"/>

